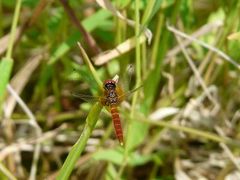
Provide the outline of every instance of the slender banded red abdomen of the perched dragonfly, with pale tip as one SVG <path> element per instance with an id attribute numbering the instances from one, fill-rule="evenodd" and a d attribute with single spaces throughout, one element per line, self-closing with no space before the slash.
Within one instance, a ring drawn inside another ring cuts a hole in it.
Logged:
<path id="1" fill-rule="evenodd" d="M 111 115 L 112 115 L 112 120 L 113 120 L 113 124 L 114 124 L 114 128 L 115 128 L 116 136 L 117 136 L 120 144 L 123 145 L 122 125 L 121 125 L 120 116 L 119 116 L 117 107 L 115 107 L 115 106 L 111 107 L 110 111 L 111 111 Z"/>

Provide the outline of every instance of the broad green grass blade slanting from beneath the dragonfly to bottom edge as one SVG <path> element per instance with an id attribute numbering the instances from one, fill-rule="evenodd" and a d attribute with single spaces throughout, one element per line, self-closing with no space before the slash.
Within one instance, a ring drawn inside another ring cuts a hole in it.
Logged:
<path id="1" fill-rule="evenodd" d="M 84 147 L 87 143 L 87 140 L 90 137 L 95 127 L 95 124 L 98 120 L 101 109 L 102 109 L 102 105 L 99 103 L 96 103 L 92 107 L 86 119 L 86 124 L 83 129 L 83 132 L 81 133 L 80 138 L 78 139 L 76 144 L 74 144 L 74 146 L 72 147 L 70 153 L 68 154 L 67 159 L 65 160 L 62 168 L 60 169 L 60 172 L 57 176 L 58 180 L 69 179 L 69 176 L 74 169 L 74 165 L 76 164 L 79 156 L 83 152 Z"/>

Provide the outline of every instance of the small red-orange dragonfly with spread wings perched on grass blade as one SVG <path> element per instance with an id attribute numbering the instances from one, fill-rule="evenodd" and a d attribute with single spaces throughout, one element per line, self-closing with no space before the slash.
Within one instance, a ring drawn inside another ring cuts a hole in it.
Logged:
<path id="1" fill-rule="evenodd" d="M 123 130 L 118 111 L 118 106 L 125 100 L 126 97 L 130 96 L 135 91 L 139 90 L 142 86 L 139 86 L 133 90 L 124 92 L 122 87 L 118 84 L 118 79 L 107 79 L 103 82 L 102 95 L 101 96 L 90 96 L 84 94 L 75 94 L 73 96 L 83 99 L 85 101 L 98 101 L 103 106 L 110 110 L 112 121 L 115 129 L 115 135 L 121 146 L 124 145 Z"/>

